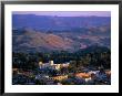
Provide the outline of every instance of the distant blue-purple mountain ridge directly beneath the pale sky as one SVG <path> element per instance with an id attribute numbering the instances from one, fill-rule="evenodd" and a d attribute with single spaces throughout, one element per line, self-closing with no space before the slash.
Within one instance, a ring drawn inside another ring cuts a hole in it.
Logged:
<path id="1" fill-rule="evenodd" d="M 13 28 L 32 28 L 35 30 L 72 30 L 78 28 L 111 25 L 110 17 L 50 17 L 34 14 L 13 14 Z"/>

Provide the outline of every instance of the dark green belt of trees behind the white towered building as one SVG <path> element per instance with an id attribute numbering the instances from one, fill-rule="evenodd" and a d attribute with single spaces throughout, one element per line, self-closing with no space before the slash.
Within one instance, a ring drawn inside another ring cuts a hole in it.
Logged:
<path id="1" fill-rule="evenodd" d="M 70 62 L 69 72 L 80 71 L 83 66 L 111 68 L 111 52 L 105 47 L 95 46 L 92 50 L 89 47 L 85 51 L 78 51 L 75 53 L 67 51 L 52 53 L 13 52 L 13 67 L 22 70 L 37 70 L 39 61 L 49 62 L 50 60 L 53 60 L 54 63 Z"/>

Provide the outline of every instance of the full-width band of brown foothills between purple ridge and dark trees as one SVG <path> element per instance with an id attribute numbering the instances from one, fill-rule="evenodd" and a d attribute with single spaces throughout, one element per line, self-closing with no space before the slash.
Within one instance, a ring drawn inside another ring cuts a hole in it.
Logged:
<path id="1" fill-rule="evenodd" d="M 13 51 L 50 52 L 78 51 L 98 44 L 110 47 L 109 36 L 74 34 L 72 32 L 44 33 L 33 30 L 13 30 Z"/>

